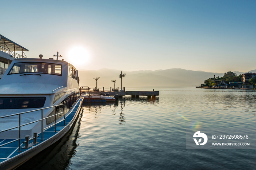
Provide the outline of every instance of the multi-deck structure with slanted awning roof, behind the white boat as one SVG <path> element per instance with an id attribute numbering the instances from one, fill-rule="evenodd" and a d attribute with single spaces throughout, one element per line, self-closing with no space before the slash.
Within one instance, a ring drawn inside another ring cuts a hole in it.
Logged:
<path id="1" fill-rule="evenodd" d="M 24 53 L 25 51 L 29 50 L 0 34 L 0 79 L 10 66 L 12 60 L 27 58 Z"/>

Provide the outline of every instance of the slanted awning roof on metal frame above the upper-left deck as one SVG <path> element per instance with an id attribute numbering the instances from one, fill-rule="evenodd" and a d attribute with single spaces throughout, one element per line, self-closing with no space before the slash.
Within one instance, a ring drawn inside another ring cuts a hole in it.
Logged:
<path id="1" fill-rule="evenodd" d="M 29 51 L 26 48 L 20 46 L 19 44 L 15 43 L 14 41 L 4 37 L 0 34 L 0 46 L 10 50 L 10 51 Z"/>

